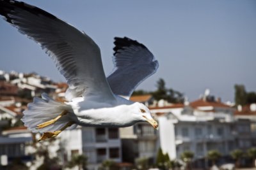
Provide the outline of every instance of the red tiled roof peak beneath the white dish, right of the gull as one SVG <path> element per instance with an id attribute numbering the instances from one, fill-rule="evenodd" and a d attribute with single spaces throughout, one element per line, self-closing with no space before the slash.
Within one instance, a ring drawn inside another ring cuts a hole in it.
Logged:
<path id="1" fill-rule="evenodd" d="M 196 101 L 193 101 L 191 103 L 189 103 L 189 106 L 191 106 L 192 108 L 197 108 L 197 107 L 203 107 L 203 106 L 212 106 L 212 107 L 216 107 L 216 108 L 230 108 L 230 106 L 228 106 L 227 104 L 221 103 L 221 102 L 217 102 L 217 101 L 204 101 L 203 99 L 198 99 Z"/>

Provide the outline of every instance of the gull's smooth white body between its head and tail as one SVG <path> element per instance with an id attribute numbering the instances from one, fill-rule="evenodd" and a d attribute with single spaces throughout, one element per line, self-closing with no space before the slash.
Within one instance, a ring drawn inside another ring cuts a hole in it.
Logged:
<path id="1" fill-rule="evenodd" d="M 99 103 L 96 101 L 86 101 L 83 97 L 77 97 L 73 102 L 67 103 L 74 111 L 74 121 L 78 125 L 97 127 L 127 127 L 135 124 L 138 120 L 133 120 L 129 110 L 134 103 L 122 97 L 116 96 L 116 101 L 111 103 Z"/>

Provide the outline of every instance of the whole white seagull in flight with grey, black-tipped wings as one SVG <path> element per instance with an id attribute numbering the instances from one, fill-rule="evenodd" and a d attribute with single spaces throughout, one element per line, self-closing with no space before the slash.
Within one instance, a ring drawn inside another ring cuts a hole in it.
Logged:
<path id="1" fill-rule="evenodd" d="M 54 101 L 43 93 L 28 104 L 22 121 L 44 140 L 77 125 L 128 127 L 148 122 L 157 129 L 150 110 L 129 101 L 138 85 L 159 66 L 148 48 L 130 38 L 115 38 L 113 71 L 105 76 L 100 48 L 85 32 L 36 6 L 0 0 L 0 14 L 21 34 L 38 43 L 65 77 L 67 102 Z"/>

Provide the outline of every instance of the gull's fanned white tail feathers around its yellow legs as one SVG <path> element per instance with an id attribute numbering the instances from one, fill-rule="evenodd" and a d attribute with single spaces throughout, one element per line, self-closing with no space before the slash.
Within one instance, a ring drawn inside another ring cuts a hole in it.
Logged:
<path id="1" fill-rule="evenodd" d="M 33 103 L 28 104 L 28 110 L 23 111 L 24 117 L 21 120 L 32 132 L 54 132 L 60 130 L 61 127 L 72 121 L 69 114 L 64 115 L 54 124 L 47 125 L 42 129 L 38 129 L 37 125 L 58 117 L 63 111 L 70 110 L 72 110 L 72 108 L 67 104 L 54 101 L 47 94 L 43 93 L 42 98 L 34 97 Z M 67 129 L 74 129 L 76 126 L 77 124 L 73 124 Z"/>

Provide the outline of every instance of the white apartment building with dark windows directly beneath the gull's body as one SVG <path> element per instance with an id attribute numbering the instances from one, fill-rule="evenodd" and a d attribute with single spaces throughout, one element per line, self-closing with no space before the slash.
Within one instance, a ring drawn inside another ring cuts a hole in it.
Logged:
<path id="1" fill-rule="evenodd" d="M 60 134 L 63 157 L 70 160 L 74 154 L 88 158 L 88 169 L 98 169 L 104 160 L 122 162 L 122 148 L 117 128 L 78 127 Z M 64 159 L 64 158 L 63 158 Z"/>

